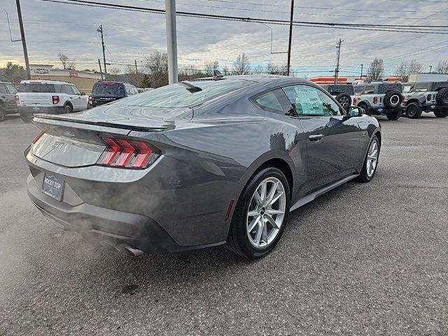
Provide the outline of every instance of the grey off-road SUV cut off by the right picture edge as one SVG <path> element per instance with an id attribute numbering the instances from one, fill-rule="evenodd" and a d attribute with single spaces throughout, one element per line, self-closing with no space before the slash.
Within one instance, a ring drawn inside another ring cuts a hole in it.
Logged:
<path id="1" fill-rule="evenodd" d="M 403 95 L 407 118 L 420 118 L 423 111 L 438 118 L 448 116 L 448 82 L 405 83 Z"/>

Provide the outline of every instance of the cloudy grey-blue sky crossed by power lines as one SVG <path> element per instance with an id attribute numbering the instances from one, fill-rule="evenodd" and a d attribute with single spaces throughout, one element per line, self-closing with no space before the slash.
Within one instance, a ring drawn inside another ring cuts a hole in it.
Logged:
<path id="1" fill-rule="evenodd" d="M 62 0 L 64 1 L 64 0 Z M 97 0 L 128 6 L 165 9 L 164 0 Z M 102 49 L 97 26 L 106 33 L 107 62 L 124 69 L 125 64 L 141 64 L 153 50 L 166 50 L 165 15 L 134 11 L 76 6 L 66 3 L 22 0 L 22 15 L 31 64 L 61 66 L 57 53 L 63 52 L 76 61 L 77 69 L 98 69 Z M 23 64 L 22 45 L 10 42 L 6 10 L 13 38 L 20 38 L 14 0 L 1 0 L 0 66 L 11 61 Z M 278 0 L 179 0 L 177 10 L 289 20 L 290 1 Z M 296 0 L 295 20 L 312 22 L 346 22 L 385 25 L 448 25 L 448 1 L 442 0 Z M 288 27 L 269 25 L 273 29 L 273 51 L 288 47 Z M 260 23 L 177 18 L 179 68 L 217 60 L 221 66 L 232 65 L 245 52 L 252 66 L 268 62 L 284 64 L 286 54 L 270 54 L 271 30 Z M 297 76 L 330 76 L 334 70 L 339 38 L 341 74 L 357 75 L 360 64 L 374 57 L 384 59 L 386 75 L 409 59 L 419 59 L 424 70 L 433 69 L 448 59 L 448 34 L 362 31 L 320 27 L 294 27 L 292 62 Z"/>

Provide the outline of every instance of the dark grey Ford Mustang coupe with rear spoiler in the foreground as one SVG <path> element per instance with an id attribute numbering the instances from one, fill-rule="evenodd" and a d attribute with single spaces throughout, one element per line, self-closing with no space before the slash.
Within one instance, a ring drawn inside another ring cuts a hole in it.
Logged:
<path id="1" fill-rule="evenodd" d="M 307 80 L 216 76 L 69 115 L 36 115 L 31 201 L 128 255 L 226 244 L 260 258 L 288 212 L 370 181 L 381 127 Z"/>

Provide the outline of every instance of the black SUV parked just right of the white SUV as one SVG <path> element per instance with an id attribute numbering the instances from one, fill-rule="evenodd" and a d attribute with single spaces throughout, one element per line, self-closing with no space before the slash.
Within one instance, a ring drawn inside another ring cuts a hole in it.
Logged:
<path id="1" fill-rule="evenodd" d="M 90 106 L 95 107 L 110 103 L 137 93 L 139 93 L 137 87 L 129 83 L 100 80 L 93 85 Z"/>

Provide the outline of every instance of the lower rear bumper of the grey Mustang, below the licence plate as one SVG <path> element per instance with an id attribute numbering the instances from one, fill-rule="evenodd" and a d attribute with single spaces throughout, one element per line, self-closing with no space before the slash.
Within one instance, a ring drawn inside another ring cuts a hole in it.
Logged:
<path id="1" fill-rule="evenodd" d="M 80 233 L 92 244 L 127 244 L 145 253 L 178 253 L 223 244 L 179 246 L 152 218 L 81 203 L 76 206 L 59 202 L 42 193 L 31 174 L 27 179 L 31 202 L 53 224 Z"/>

